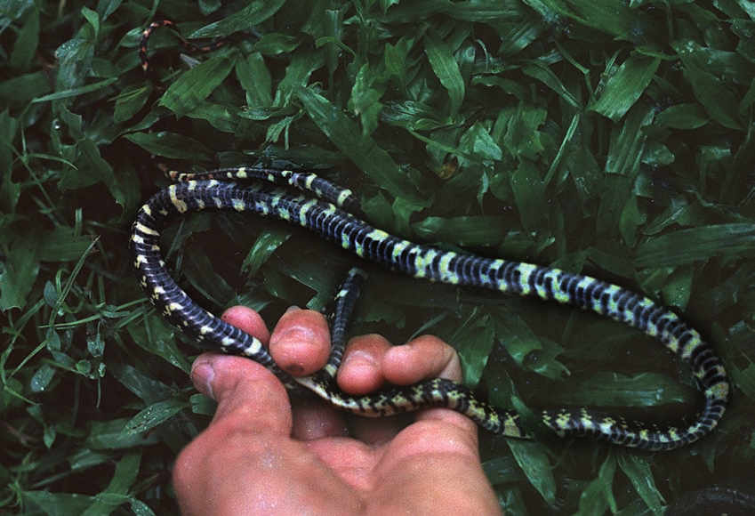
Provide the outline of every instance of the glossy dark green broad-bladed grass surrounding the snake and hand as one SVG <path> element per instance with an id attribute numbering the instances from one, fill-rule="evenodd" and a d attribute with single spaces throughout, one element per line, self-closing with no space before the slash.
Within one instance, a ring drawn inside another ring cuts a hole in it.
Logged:
<path id="1" fill-rule="evenodd" d="M 156 31 L 161 91 L 138 45 L 165 18 L 229 39 L 181 57 Z M 0 0 L 0 513 L 177 513 L 171 464 L 213 407 L 127 254 L 157 161 L 315 168 L 384 230 L 630 286 L 711 338 L 734 385 L 711 438 L 651 455 L 485 435 L 507 514 L 661 514 L 749 479 L 753 19 L 747 0 Z M 240 216 L 169 233 L 197 300 L 269 321 L 322 306 L 353 261 Z M 621 325 L 371 273 L 355 331 L 443 336 L 497 405 L 694 411 L 687 370 Z"/>

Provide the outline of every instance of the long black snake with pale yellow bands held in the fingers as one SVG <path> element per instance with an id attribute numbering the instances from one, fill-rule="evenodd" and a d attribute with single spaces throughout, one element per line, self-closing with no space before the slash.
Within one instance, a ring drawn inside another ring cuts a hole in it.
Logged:
<path id="1" fill-rule="evenodd" d="M 527 437 L 516 413 L 491 407 L 475 399 L 463 385 L 447 380 L 431 380 L 361 398 L 346 396 L 333 387 L 333 376 L 341 363 L 346 341 L 346 325 L 361 279 L 359 270 L 349 273 L 336 299 L 333 351 L 327 366 L 305 378 L 288 375 L 277 367 L 257 339 L 200 308 L 175 283 L 159 246 L 160 231 L 169 219 L 211 209 L 277 217 L 312 230 L 362 259 L 414 278 L 534 296 L 592 310 L 661 341 L 692 369 L 703 391 L 703 409 L 694 421 L 679 427 L 628 423 L 584 408 L 543 410 L 543 423 L 561 437 L 591 436 L 628 447 L 666 450 L 702 438 L 724 414 L 729 385 L 720 359 L 695 329 L 647 297 L 565 270 L 443 251 L 394 237 L 357 218 L 357 201 L 348 189 L 312 173 L 236 168 L 172 176 L 179 182 L 150 198 L 133 224 L 130 246 L 134 268 L 149 301 L 173 326 L 207 349 L 256 360 L 290 390 L 301 390 L 303 386 L 336 407 L 367 416 L 397 414 L 421 407 L 449 407 L 488 431 Z"/>

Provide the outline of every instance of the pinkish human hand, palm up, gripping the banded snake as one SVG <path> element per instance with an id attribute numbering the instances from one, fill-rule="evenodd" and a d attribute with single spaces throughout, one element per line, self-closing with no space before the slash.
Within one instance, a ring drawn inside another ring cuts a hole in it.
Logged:
<path id="1" fill-rule="evenodd" d="M 235 307 L 223 318 L 269 343 L 293 375 L 325 365 L 330 334 L 315 311 L 289 310 L 272 335 L 253 310 Z M 456 353 L 438 338 L 394 347 L 365 335 L 349 342 L 338 383 L 363 395 L 438 376 L 461 378 Z M 250 359 L 205 353 L 192 380 L 218 408 L 175 464 L 186 516 L 501 514 L 479 464 L 477 426 L 452 410 L 422 410 L 403 427 L 401 416 L 354 417 L 349 432 L 345 415 L 325 402 L 292 414 L 283 385 Z"/>

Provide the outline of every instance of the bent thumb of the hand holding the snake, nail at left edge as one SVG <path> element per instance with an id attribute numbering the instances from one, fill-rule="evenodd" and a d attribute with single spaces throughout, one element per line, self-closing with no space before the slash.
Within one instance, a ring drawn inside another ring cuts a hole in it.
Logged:
<path id="1" fill-rule="evenodd" d="M 191 381 L 197 391 L 218 402 L 211 426 L 291 433 L 291 403 L 285 387 L 257 362 L 205 353 L 194 361 Z"/>

